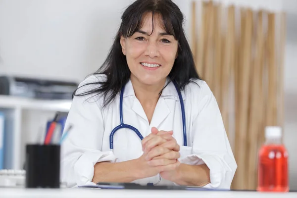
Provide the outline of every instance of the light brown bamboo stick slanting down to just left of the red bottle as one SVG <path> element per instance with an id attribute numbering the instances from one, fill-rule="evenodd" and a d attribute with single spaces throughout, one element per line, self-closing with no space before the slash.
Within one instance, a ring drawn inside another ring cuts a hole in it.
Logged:
<path id="1" fill-rule="evenodd" d="M 263 105 L 263 93 L 262 93 L 262 70 L 261 59 L 264 52 L 264 32 L 263 32 L 263 12 L 260 11 L 257 14 L 257 34 L 256 34 L 256 51 L 255 51 L 255 61 L 252 65 L 252 76 L 251 76 L 251 92 L 250 92 L 250 113 L 249 113 L 249 127 L 248 127 L 248 142 L 249 142 L 249 152 L 247 155 L 247 180 L 248 189 L 256 189 L 256 179 L 257 179 L 257 134 L 261 133 L 261 119 L 262 113 L 259 112 L 261 106 Z"/>

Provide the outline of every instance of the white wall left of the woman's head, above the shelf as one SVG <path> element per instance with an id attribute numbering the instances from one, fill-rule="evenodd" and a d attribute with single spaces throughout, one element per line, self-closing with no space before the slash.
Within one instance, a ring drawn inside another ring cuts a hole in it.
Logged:
<path id="1" fill-rule="evenodd" d="M 0 0 L 0 73 L 82 80 L 103 62 L 129 2 Z"/>

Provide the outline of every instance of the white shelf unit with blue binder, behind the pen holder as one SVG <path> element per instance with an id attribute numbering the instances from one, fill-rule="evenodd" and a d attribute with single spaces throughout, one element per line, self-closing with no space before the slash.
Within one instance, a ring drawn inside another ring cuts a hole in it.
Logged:
<path id="1" fill-rule="evenodd" d="M 68 113 L 72 100 L 29 99 L 0 95 L 5 114 L 4 168 L 23 169 L 25 145 L 37 143 L 56 111 Z"/>

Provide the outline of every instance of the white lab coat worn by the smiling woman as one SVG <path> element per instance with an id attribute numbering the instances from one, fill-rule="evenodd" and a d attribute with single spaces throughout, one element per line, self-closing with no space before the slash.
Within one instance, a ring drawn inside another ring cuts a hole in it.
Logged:
<path id="1" fill-rule="evenodd" d="M 80 86 L 102 81 L 104 76 L 88 77 Z M 141 103 L 136 98 L 131 81 L 125 87 L 123 97 L 123 120 L 136 127 L 143 137 L 152 127 L 171 131 L 181 146 L 181 163 L 203 164 L 210 169 L 210 184 L 205 187 L 229 189 L 237 168 L 217 102 L 204 81 L 190 83 L 182 96 L 186 113 L 188 146 L 183 146 L 182 115 L 177 91 L 171 82 L 162 92 L 150 124 Z M 85 86 L 78 93 L 98 85 Z M 107 108 L 102 108 L 103 97 L 75 97 L 66 127 L 73 129 L 61 150 L 61 181 L 68 187 L 93 184 L 94 165 L 97 162 L 121 162 L 143 154 L 139 137 L 129 129 L 120 129 L 114 135 L 113 152 L 109 149 L 109 134 L 119 125 L 119 94 Z M 146 185 L 156 183 L 159 176 L 134 181 Z M 162 179 L 159 185 L 174 185 Z"/>

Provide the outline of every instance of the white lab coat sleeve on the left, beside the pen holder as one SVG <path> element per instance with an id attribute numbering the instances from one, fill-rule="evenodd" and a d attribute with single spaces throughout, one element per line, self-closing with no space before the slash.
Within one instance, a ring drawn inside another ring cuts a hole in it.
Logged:
<path id="1" fill-rule="evenodd" d="M 80 86 L 94 82 L 89 77 Z M 98 86 L 98 85 L 97 85 Z M 82 93 L 92 86 L 78 90 Z M 103 137 L 103 118 L 98 97 L 74 97 L 65 123 L 65 129 L 73 125 L 61 148 L 61 181 L 67 187 L 90 185 L 97 162 L 116 160 L 111 151 L 100 151 Z"/>

